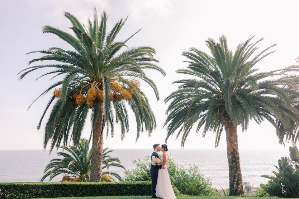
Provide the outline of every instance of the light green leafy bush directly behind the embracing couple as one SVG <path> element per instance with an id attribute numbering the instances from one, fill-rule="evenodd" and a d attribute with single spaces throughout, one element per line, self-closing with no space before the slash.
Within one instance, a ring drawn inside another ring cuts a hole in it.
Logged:
<path id="1" fill-rule="evenodd" d="M 134 160 L 135 169 L 124 172 L 125 181 L 151 180 L 150 178 L 150 157 Z M 179 193 L 190 196 L 215 195 L 215 190 L 211 187 L 210 180 L 206 180 L 200 173 L 197 166 L 189 165 L 183 168 L 175 164 L 173 158 L 169 155 L 167 158 L 167 169 L 173 190 L 178 189 Z"/>

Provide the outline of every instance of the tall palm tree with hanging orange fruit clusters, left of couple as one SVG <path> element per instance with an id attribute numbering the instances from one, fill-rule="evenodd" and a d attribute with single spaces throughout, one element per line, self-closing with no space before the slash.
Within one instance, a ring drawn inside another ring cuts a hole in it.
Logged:
<path id="1" fill-rule="evenodd" d="M 49 50 L 31 52 L 43 53 L 45 56 L 33 59 L 29 64 L 37 61 L 55 62 L 28 67 L 19 73 L 20 79 L 30 72 L 43 68 L 54 68 L 54 70 L 40 77 L 64 75 L 62 80 L 56 81 L 40 94 L 43 96 L 55 88 L 54 96 L 46 105 L 37 129 L 40 129 L 45 113 L 55 102 L 45 125 L 44 148 L 50 143 L 51 152 L 55 147 L 66 146 L 69 140 L 77 146 L 88 112 L 91 110 L 93 150 L 91 181 L 101 181 L 104 127 L 107 126 L 107 136 L 108 132 L 111 132 L 113 137 L 114 124 L 120 123 L 121 139 L 123 139 L 129 130 L 126 108 L 129 106 L 136 118 L 136 141 L 144 130 L 151 134 L 156 127 L 156 120 L 147 97 L 140 89 L 139 80 L 149 84 L 159 100 L 157 87 L 146 76 L 145 70 L 153 69 L 163 76 L 166 74 L 155 64 L 158 60 L 153 58 L 155 54 L 153 48 L 148 46 L 127 48 L 126 42 L 140 30 L 124 41 L 114 41 L 127 18 L 118 21 L 112 30 L 107 32 L 105 12 L 102 13 L 101 21 L 98 23 L 97 12 L 94 9 L 93 22 L 88 20 L 87 27 L 68 12 L 65 12 L 64 16 L 72 23 L 70 29 L 75 36 L 52 26 L 45 26 L 43 32 L 57 35 L 70 44 L 73 50 L 53 47 Z M 122 50 L 124 47 L 126 49 Z"/>

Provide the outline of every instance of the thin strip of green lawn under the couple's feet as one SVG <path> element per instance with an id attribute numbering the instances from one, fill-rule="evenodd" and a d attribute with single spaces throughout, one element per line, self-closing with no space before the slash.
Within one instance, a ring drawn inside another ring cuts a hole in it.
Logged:
<path id="1" fill-rule="evenodd" d="M 41 199 L 41 198 L 38 198 Z M 50 198 L 43 198 L 50 199 Z M 54 199 L 54 198 L 51 198 Z M 55 199 L 152 199 L 150 196 L 100 196 L 100 197 L 66 197 Z M 234 196 L 177 196 L 177 199 L 244 199 L 244 197 Z M 250 197 L 250 199 L 260 199 L 258 197 Z"/>

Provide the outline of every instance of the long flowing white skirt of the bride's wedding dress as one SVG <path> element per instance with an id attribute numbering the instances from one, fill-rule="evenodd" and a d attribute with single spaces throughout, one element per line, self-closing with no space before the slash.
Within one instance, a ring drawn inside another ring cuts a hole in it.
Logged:
<path id="1" fill-rule="evenodd" d="M 167 167 L 165 169 L 159 169 L 156 196 L 163 199 L 176 199 L 169 179 Z"/>

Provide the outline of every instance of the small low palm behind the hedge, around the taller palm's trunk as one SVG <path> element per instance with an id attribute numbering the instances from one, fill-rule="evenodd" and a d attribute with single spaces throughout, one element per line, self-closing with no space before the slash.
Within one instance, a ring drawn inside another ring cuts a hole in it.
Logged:
<path id="1" fill-rule="evenodd" d="M 63 177 L 63 181 L 89 181 L 91 170 L 91 157 L 92 150 L 89 147 L 89 140 L 80 139 L 78 146 L 65 146 L 60 147 L 65 152 L 58 152 L 58 156 L 62 156 L 62 159 L 55 158 L 45 168 L 45 175 L 41 178 L 41 182 L 50 176 L 51 181 L 55 176 L 59 174 L 66 174 Z M 115 172 L 110 172 L 110 167 L 120 167 L 125 169 L 120 163 L 118 158 L 113 158 L 109 154 L 113 150 L 105 148 L 103 150 L 103 164 L 102 169 L 106 171 L 102 173 L 102 181 L 115 181 L 116 179 L 122 181 L 120 175 Z M 115 179 L 116 178 L 116 179 Z"/>

